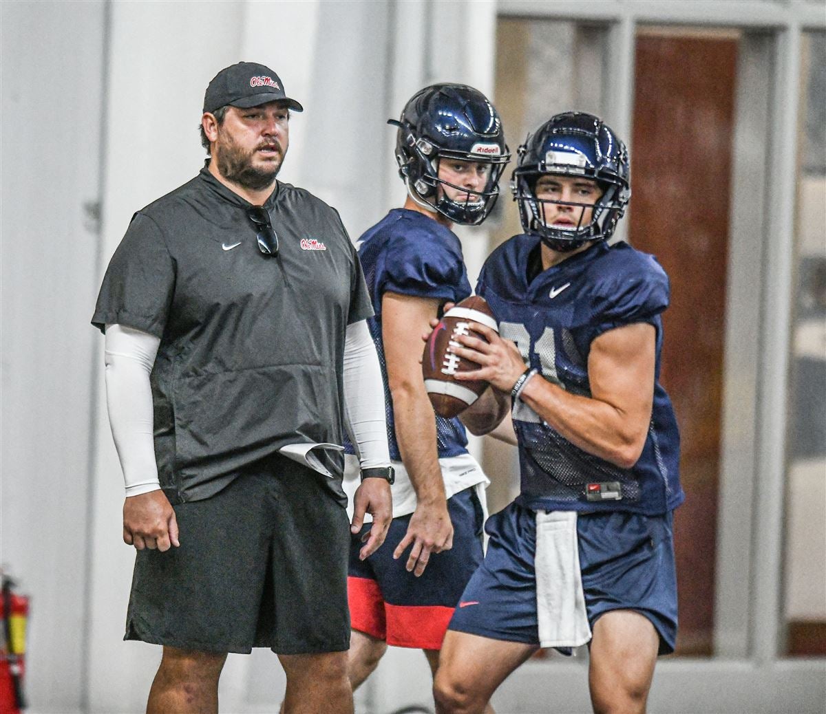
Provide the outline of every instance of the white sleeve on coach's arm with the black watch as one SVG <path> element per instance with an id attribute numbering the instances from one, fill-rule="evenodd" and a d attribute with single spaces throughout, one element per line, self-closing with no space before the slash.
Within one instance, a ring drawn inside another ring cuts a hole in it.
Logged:
<path id="1" fill-rule="evenodd" d="M 344 341 L 344 412 L 350 441 L 363 469 L 390 465 L 384 385 L 366 320 L 347 326 Z"/>

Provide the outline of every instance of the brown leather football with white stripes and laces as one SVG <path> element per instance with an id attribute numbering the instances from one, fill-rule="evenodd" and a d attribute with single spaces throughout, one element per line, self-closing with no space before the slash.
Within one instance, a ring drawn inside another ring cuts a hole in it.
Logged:
<path id="1" fill-rule="evenodd" d="M 468 330 L 468 324 L 477 322 L 499 332 L 496 318 L 484 298 L 470 296 L 454 305 L 439 320 L 425 344 L 421 358 L 422 376 L 430 397 L 430 404 L 436 414 L 455 417 L 473 404 L 487 389 L 487 381 L 458 381 L 459 371 L 473 371 L 479 368 L 476 362 L 458 357 L 448 352 L 449 345 L 458 335 L 470 334 L 484 339 L 481 334 Z"/>

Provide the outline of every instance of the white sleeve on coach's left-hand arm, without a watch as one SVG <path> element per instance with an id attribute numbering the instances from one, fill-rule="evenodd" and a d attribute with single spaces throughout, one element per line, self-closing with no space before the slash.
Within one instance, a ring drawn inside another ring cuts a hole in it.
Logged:
<path id="1" fill-rule="evenodd" d="M 150 387 L 159 344 L 159 338 L 149 333 L 119 324 L 106 326 L 107 409 L 127 496 L 160 488 Z"/>

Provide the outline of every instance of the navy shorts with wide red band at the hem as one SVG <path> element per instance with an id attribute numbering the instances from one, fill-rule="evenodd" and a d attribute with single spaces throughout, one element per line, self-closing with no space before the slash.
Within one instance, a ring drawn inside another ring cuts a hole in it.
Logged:
<path id="1" fill-rule="evenodd" d="M 453 547 L 431 553 L 419 577 L 406 570 L 410 547 L 398 560 L 393 551 L 405 537 L 411 516 L 393 518 L 387 540 L 367 560 L 358 560 L 362 528 L 350 544 L 349 606 L 354 630 L 388 645 L 440 650 L 444 632 L 465 585 L 482 563 L 482 504 L 476 487 L 448 499 Z"/>

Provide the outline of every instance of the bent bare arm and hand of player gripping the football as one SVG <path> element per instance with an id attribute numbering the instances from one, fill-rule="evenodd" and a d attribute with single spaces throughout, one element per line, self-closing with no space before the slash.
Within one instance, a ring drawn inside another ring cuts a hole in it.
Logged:
<path id="1" fill-rule="evenodd" d="M 491 342 L 461 338 L 458 354 L 483 364 L 482 369 L 458 375 L 488 379 L 510 390 L 524 364 L 502 348 L 503 340 L 483 325 L 472 329 Z M 469 348 L 469 349 L 468 349 Z M 477 352 L 478 351 L 478 352 Z M 534 376 L 525 383 L 520 399 L 569 442 L 621 468 L 638 461 L 648 436 L 653 409 L 655 331 L 634 323 L 602 333 L 591 343 L 588 379 L 591 397 L 572 395 L 558 385 Z"/>

